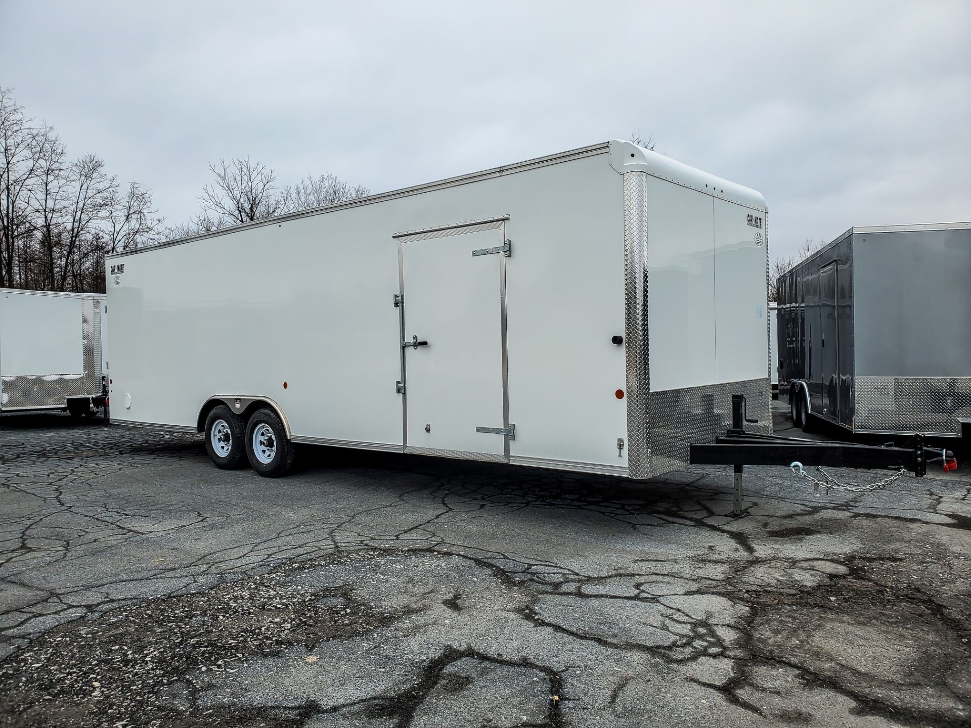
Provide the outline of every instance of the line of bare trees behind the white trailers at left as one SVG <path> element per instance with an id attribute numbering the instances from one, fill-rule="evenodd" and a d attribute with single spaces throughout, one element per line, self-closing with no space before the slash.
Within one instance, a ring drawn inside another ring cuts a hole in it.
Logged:
<path id="1" fill-rule="evenodd" d="M 0 87 L 0 288 L 104 292 L 109 253 L 368 194 L 331 174 L 280 185 L 249 157 L 210 171 L 199 212 L 169 224 L 148 186 L 119 182 L 95 154 L 69 156 L 54 128 Z"/>

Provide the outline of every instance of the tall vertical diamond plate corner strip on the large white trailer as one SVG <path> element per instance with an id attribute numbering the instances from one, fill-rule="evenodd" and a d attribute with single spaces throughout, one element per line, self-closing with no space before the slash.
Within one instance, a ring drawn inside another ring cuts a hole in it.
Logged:
<path id="1" fill-rule="evenodd" d="M 627 375 L 627 474 L 651 472 L 651 369 L 648 356 L 648 175 L 623 176 L 624 354 Z"/>

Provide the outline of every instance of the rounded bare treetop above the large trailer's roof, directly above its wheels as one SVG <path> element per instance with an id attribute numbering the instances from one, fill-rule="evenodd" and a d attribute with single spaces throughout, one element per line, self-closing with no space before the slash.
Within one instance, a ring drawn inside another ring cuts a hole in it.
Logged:
<path id="1" fill-rule="evenodd" d="M 277 175 L 272 168 L 250 157 L 230 162 L 220 159 L 218 166 L 209 165 L 216 182 L 202 188 L 199 204 L 209 215 L 232 223 L 273 217 L 283 212 L 283 200 L 277 194 Z"/>

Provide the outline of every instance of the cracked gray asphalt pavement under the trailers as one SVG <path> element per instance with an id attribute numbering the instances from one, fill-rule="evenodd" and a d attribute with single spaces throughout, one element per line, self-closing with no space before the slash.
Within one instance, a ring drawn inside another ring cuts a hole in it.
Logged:
<path id="1" fill-rule="evenodd" d="M 966 474 L 748 468 L 733 517 L 728 468 L 305 447 L 265 480 L 3 415 L 0 722 L 965 726 Z"/>

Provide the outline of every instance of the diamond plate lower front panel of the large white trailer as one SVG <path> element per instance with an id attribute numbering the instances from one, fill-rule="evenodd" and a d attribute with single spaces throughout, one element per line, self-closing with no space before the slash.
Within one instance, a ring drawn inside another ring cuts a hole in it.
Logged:
<path id="1" fill-rule="evenodd" d="M 768 378 L 727 381 L 684 389 L 652 392 L 651 472 L 659 476 L 688 466 L 690 443 L 714 443 L 731 427 L 731 396 L 744 394 L 749 417 L 749 432 L 772 432 L 772 384 Z"/>

